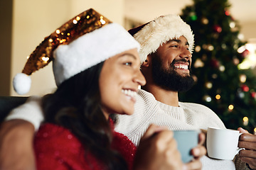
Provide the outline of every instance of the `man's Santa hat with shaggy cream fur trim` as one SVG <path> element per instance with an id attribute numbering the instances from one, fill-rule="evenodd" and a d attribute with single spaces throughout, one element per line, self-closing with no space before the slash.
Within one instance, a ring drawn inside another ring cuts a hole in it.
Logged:
<path id="1" fill-rule="evenodd" d="M 160 45 L 181 36 L 186 38 L 188 50 L 193 52 L 194 35 L 191 27 L 180 16 L 174 14 L 159 16 L 149 23 L 132 28 L 129 33 L 141 45 L 139 57 L 142 62 L 146 60 L 147 55 L 156 52 Z"/>

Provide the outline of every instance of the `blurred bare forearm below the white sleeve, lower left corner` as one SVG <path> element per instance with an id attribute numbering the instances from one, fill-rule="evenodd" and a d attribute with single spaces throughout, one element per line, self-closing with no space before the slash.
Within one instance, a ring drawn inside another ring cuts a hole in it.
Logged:
<path id="1" fill-rule="evenodd" d="M 36 170 L 34 128 L 26 120 L 9 120 L 0 126 L 0 170 Z"/>

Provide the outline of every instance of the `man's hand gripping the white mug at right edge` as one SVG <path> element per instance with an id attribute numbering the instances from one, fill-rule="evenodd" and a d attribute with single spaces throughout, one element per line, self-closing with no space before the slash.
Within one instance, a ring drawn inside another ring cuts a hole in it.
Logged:
<path id="1" fill-rule="evenodd" d="M 240 150 L 239 157 L 242 162 L 250 166 L 250 169 L 256 169 L 256 135 L 252 135 L 242 128 L 238 128 L 238 130 L 243 133 L 240 135 L 238 147 L 245 148 Z"/>

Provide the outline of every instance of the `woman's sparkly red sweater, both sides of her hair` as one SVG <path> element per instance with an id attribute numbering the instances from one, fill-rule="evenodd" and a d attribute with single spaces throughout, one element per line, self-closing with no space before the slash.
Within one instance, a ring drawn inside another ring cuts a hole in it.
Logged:
<path id="1" fill-rule="evenodd" d="M 80 141 L 70 130 L 46 123 L 39 128 L 34 141 L 36 166 L 38 170 L 54 169 L 93 169 L 102 170 L 102 166 L 92 154 L 87 153 Z M 117 150 L 132 169 L 136 147 L 124 135 L 114 132 L 112 149 Z M 93 168 L 92 168 L 93 167 Z"/>

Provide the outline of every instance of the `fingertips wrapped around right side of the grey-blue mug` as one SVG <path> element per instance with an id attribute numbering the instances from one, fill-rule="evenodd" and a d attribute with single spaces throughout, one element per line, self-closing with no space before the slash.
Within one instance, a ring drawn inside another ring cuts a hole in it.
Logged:
<path id="1" fill-rule="evenodd" d="M 203 143 L 206 141 L 206 135 L 203 133 L 199 134 L 199 143 L 198 146 L 191 150 L 193 154 L 193 161 L 188 162 L 185 166 L 186 169 L 190 170 L 199 170 L 202 169 L 202 163 L 200 161 L 201 157 L 206 155 L 206 147 L 203 146 Z"/>

